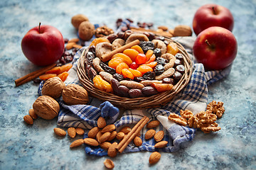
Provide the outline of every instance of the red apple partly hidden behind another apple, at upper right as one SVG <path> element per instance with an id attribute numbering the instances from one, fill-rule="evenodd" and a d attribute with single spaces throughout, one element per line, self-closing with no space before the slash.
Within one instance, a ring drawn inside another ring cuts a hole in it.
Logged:
<path id="1" fill-rule="evenodd" d="M 228 8 L 216 4 L 206 4 L 198 8 L 193 18 L 193 30 L 196 35 L 212 26 L 233 30 L 234 18 Z"/>

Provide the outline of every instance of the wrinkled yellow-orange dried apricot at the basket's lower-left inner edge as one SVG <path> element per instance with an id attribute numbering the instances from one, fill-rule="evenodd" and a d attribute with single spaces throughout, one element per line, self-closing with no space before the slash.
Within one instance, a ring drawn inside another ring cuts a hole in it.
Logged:
<path id="1" fill-rule="evenodd" d="M 105 81 L 100 75 L 96 75 L 92 81 L 93 81 L 93 86 L 95 86 L 97 89 L 106 91 L 108 93 L 113 92 L 111 84 Z"/>

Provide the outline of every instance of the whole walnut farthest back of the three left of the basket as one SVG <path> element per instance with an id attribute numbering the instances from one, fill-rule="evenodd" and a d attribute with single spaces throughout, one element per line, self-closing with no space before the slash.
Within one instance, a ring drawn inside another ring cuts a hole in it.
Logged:
<path id="1" fill-rule="evenodd" d="M 64 88 L 65 84 L 60 77 L 53 77 L 43 84 L 42 94 L 52 98 L 59 98 Z"/>

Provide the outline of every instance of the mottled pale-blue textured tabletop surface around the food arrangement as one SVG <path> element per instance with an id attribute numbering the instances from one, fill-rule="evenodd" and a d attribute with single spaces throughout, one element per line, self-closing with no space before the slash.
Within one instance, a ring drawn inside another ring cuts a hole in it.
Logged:
<path id="1" fill-rule="evenodd" d="M 114 28 L 117 18 L 153 22 L 174 28 L 192 26 L 193 14 L 203 4 L 230 9 L 238 55 L 229 77 L 209 86 L 209 101 L 223 101 L 225 115 L 217 133 L 197 132 L 192 142 L 175 153 L 162 153 L 149 166 L 150 152 L 120 154 L 115 169 L 256 169 L 256 1 L 14 1 L 0 2 L 0 169 L 104 169 L 106 157 L 87 156 L 83 147 L 70 149 L 69 137 L 53 134 L 54 120 L 23 123 L 38 94 L 29 82 L 14 80 L 38 69 L 21 52 L 21 39 L 39 22 L 54 26 L 65 38 L 75 38 L 70 19 L 84 13 L 91 23 Z M 194 35 L 193 35 L 194 36 Z M 78 139 L 80 137 L 76 137 Z"/>

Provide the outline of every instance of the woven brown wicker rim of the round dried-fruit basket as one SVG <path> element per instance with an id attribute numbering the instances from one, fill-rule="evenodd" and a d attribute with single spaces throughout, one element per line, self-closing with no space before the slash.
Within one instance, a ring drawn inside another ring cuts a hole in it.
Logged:
<path id="1" fill-rule="evenodd" d="M 114 106 L 117 106 L 119 108 L 134 109 L 134 108 L 155 108 L 155 107 L 163 106 L 164 104 L 171 101 L 171 99 L 174 98 L 174 96 L 176 96 L 176 94 L 178 94 L 188 84 L 188 81 L 190 81 L 191 79 L 191 74 L 193 69 L 191 59 L 188 56 L 188 53 L 186 52 L 184 47 L 178 42 L 171 40 L 171 38 L 166 38 L 166 40 L 169 40 L 170 42 L 175 42 L 178 45 L 178 50 L 182 53 L 184 57 L 184 66 L 186 68 L 186 71 L 183 74 L 183 77 L 181 78 L 180 81 L 178 81 L 178 83 L 173 87 L 171 91 L 164 91 L 161 94 L 156 94 L 154 96 L 141 97 L 141 98 L 125 98 L 125 97 L 107 93 L 105 91 L 101 91 L 93 86 L 92 82 L 86 75 L 84 62 L 85 62 L 85 54 L 87 52 L 87 49 L 85 49 L 82 52 L 82 55 L 78 60 L 77 73 L 82 86 L 85 87 L 85 89 L 88 91 L 90 96 L 98 98 L 102 101 L 110 101 L 110 103 L 112 103 Z"/>

